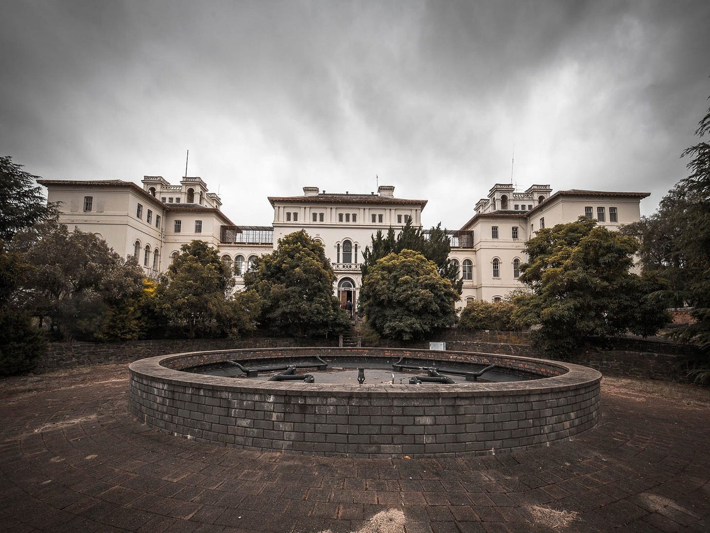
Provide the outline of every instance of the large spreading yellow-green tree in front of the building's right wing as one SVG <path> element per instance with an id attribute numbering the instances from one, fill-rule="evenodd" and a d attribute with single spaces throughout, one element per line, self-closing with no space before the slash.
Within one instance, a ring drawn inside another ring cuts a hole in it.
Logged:
<path id="1" fill-rule="evenodd" d="M 664 285 L 629 271 L 637 247 L 635 239 L 585 217 L 539 230 L 520 266 L 520 281 L 532 294 L 515 298 L 513 320 L 539 325 L 531 335 L 535 345 L 562 357 L 586 338 L 657 333 L 670 316 L 650 294 Z"/>

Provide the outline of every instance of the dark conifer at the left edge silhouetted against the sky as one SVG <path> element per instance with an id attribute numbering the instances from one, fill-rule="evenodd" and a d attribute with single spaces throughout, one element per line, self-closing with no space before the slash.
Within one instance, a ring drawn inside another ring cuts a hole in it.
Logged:
<path id="1" fill-rule="evenodd" d="M 57 214 L 56 206 L 47 204 L 33 176 L 0 157 L 0 240 L 9 241 L 16 232 L 43 222 Z"/>

